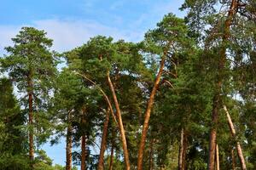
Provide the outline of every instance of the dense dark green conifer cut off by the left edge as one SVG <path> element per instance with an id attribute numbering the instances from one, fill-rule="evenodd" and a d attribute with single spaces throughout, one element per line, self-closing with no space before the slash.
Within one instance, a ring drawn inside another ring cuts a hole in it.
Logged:
<path id="1" fill-rule="evenodd" d="M 0 167 L 26 169 L 26 133 L 21 128 L 25 117 L 20 111 L 9 79 L 0 79 L 0 91 Z"/>

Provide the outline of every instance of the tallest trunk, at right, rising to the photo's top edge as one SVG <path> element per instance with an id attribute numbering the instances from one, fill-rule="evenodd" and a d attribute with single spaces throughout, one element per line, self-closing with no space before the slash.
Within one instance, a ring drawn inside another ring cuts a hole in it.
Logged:
<path id="1" fill-rule="evenodd" d="M 217 134 L 217 123 L 218 123 L 218 108 L 219 108 L 219 101 L 220 101 L 220 94 L 222 83 L 224 77 L 221 75 L 222 71 L 224 70 L 225 60 L 226 60 L 226 48 L 224 44 L 228 41 L 230 37 L 230 25 L 231 21 L 233 20 L 233 16 L 236 14 L 237 8 L 237 0 L 232 0 L 230 4 L 230 10 L 227 15 L 227 19 L 224 22 L 224 34 L 222 37 L 222 45 L 223 47 L 220 48 L 220 59 L 218 61 L 218 72 L 220 73 L 217 81 L 216 86 L 216 94 L 213 98 L 213 105 L 212 105 L 212 129 L 210 133 L 210 142 L 209 142 L 209 160 L 208 160 L 208 170 L 214 170 L 214 156 L 215 156 L 215 148 L 216 148 L 216 134 Z"/>

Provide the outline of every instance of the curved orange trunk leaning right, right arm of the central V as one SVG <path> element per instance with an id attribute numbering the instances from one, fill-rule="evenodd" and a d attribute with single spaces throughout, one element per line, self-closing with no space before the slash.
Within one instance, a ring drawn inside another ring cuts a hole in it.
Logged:
<path id="1" fill-rule="evenodd" d="M 156 94 L 156 90 L 159 87 L 160 83 L 160 77 L 162 75 L 162 72 L 164 70 L 165 66 L 165 61 L 166 61 L 166 52 L 164 56 L 162 57 L 160 61 L 160 70 L 158 71 L 157 77 L 154 81 L 154 87 L 151 91 L 150 97 L 148 99 L 148 105 L 147 109 L 145 111 L 145 118 L 144 118 L 144 123 L 143 123 L 143 132 L 142 132 L 142 137 L 141 137 L 141 143 L 139 146 L 138 150 L 138 155 L 137 155 L 137 170 L 143 170 L 143 151 L 145 148 L 145 143 L 146 143 L 146 138 L 147 138 L 147 132 L 148 132 L 148 122 L 150 118 L 150 113 L 154 104 L 154 95 Z"/>

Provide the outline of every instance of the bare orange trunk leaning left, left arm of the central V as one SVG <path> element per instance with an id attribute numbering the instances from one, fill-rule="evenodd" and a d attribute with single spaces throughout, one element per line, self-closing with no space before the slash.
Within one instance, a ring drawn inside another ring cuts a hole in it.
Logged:
<path id="1" fill-rule="evenodd" d="M 131 167 L 130 167 L 127 143 L 126 143 L 126 139 L 125 139 L 125 128 L 124 128 L 123 121 L 122 121 L 121 111 L 120 111 L 120 108 L 119 108 L 119 102 L 118 102 L 117 96 L 115 94 L 115 90 L 113 88 L 113 83 L 112 83 L 112 81 L 109 77 L 109 72 L 108 72 L 108 86 L 109 86 L 109 88 L 111 90 L 111 93 L 113 95 L 113 103 L 115 105 L 116 114 L 117 114 L 117 117 L 118 117 L 120 137 L 121 137 L 121 140 L 122 140 L 123 150 L 124 150 L 124 157 L 125 157 L 125 167 L 126 167 L 126 170 L 130 170 Z"/>

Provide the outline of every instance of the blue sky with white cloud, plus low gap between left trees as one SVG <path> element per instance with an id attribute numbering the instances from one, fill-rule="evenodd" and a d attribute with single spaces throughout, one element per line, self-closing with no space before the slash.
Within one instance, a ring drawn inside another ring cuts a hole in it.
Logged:
<path id="1" fill-rule="evenodd" d="M 21 26 L 48 32 L 53 49 L 65 51 L 96 35 L 137 42 L 172 12 L 179 17 L 183 0 L 3 0 L 0 6 L 0 56 Z M 55 163 L 65 163 L 65 141 L 44 150 Z"/>

